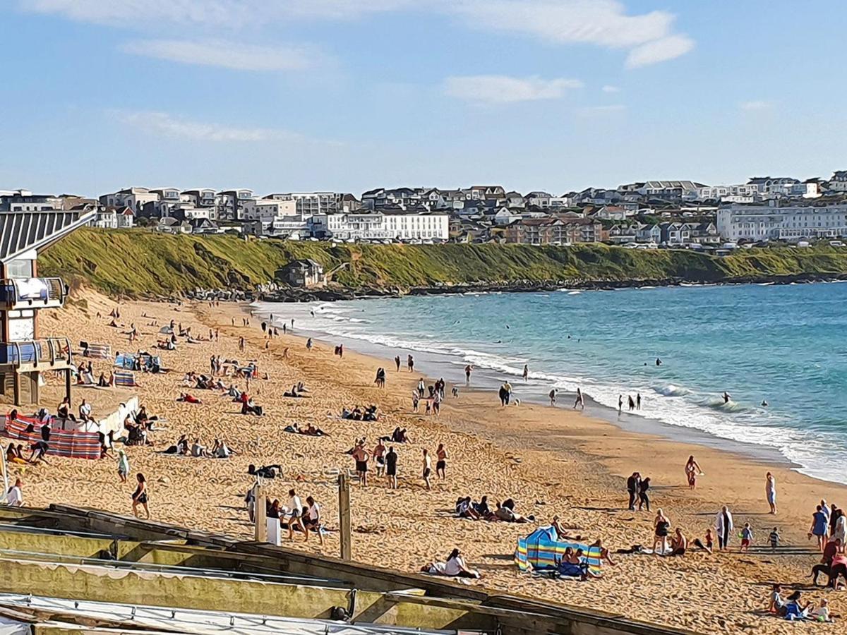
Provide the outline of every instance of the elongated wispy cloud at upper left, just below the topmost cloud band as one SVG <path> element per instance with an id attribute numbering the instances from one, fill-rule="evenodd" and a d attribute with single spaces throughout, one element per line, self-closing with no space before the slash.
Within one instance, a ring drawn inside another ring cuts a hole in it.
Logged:
<path id="1" fill-rule="evenodd" d="M 318 57 L 305 48 L 259 47 L 220 40 L 137 40 L 121 50 L 148 58 L 238 70 L 302 70 Z"/>

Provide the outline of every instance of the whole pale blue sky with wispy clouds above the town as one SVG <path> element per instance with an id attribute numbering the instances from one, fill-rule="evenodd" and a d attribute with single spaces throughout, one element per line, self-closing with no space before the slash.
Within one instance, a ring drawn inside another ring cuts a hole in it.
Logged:
<path id="1" fill-rule="evenodd" d="M 847 168 L 833 0 L 0 0 L 0 189 Z"/>

